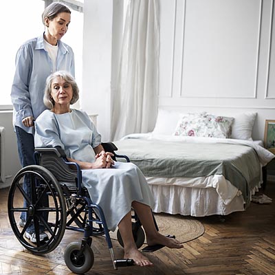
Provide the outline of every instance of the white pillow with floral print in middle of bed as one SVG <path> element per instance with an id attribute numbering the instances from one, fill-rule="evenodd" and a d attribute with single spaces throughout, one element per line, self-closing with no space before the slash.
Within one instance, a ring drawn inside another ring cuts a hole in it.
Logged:
<path id="1" fill-rule="evenodd" d="M 177 122 L 174 135 L 227 138 L 231 135 L 233 120 L 209 113 L 187 113 Z"/>

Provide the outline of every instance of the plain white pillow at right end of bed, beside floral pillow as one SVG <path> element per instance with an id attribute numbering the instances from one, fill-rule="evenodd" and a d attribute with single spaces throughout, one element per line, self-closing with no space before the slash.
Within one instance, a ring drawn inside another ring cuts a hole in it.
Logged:
<path id="1" fill-rule="evenodd" d="M 241 113 L 234 117 L 231 138 L 252 140 L 252 129 L 257 113 Z"/>

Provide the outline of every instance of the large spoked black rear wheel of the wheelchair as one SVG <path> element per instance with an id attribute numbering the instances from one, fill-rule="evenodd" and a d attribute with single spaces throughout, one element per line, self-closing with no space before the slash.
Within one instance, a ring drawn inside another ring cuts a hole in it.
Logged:
<path id="1" fill-rule="evenodd" d="M 24 178 L 29 179 L 29 192 L 23 186 Z M 21 213 L 25 213 L 25 224 L 19 224 Z M 37 165 L 19 170 L 10 186 L 8 216 L 12 230 L 24 248 L 34 254 L 46 254 L 54 250 L 66 228 L 65 199 L 54 175 Z M 30 228 L 34 230 L 36 242 L 26 237 L 27 228 L 28 231 Z M 47 240 L 41 239 L 42 231 L 47 234 Z"/>

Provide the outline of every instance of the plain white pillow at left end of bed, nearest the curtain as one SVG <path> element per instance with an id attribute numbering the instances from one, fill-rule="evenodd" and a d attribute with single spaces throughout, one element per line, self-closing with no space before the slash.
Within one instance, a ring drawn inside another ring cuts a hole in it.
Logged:
<path id="1" fill-rule="evenodd" d="M 157 135 L 172 135 L 175 132 L 180 117 L 181 114 L 176 111 L 159 109 L 153 133 Z"/>

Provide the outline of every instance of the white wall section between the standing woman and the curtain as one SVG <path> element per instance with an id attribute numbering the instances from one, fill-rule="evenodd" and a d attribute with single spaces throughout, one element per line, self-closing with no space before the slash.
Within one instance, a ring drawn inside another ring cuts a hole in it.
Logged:
<path id="1" fill-rule="evenodd" d="M 115 17 L 113 21 L 113 14 L 120 10 L 123 10 L 121 0 L 84 2 L 83 93 L 80 94 L 80 106 L 89 114 L 98 114 L 98 131 L 103 141 L 109 141 L 110 137 L 111 85 L 117 77 L 115 72 L 123 19 L 123 14 L 120 14 L 121 17 Z"/>

